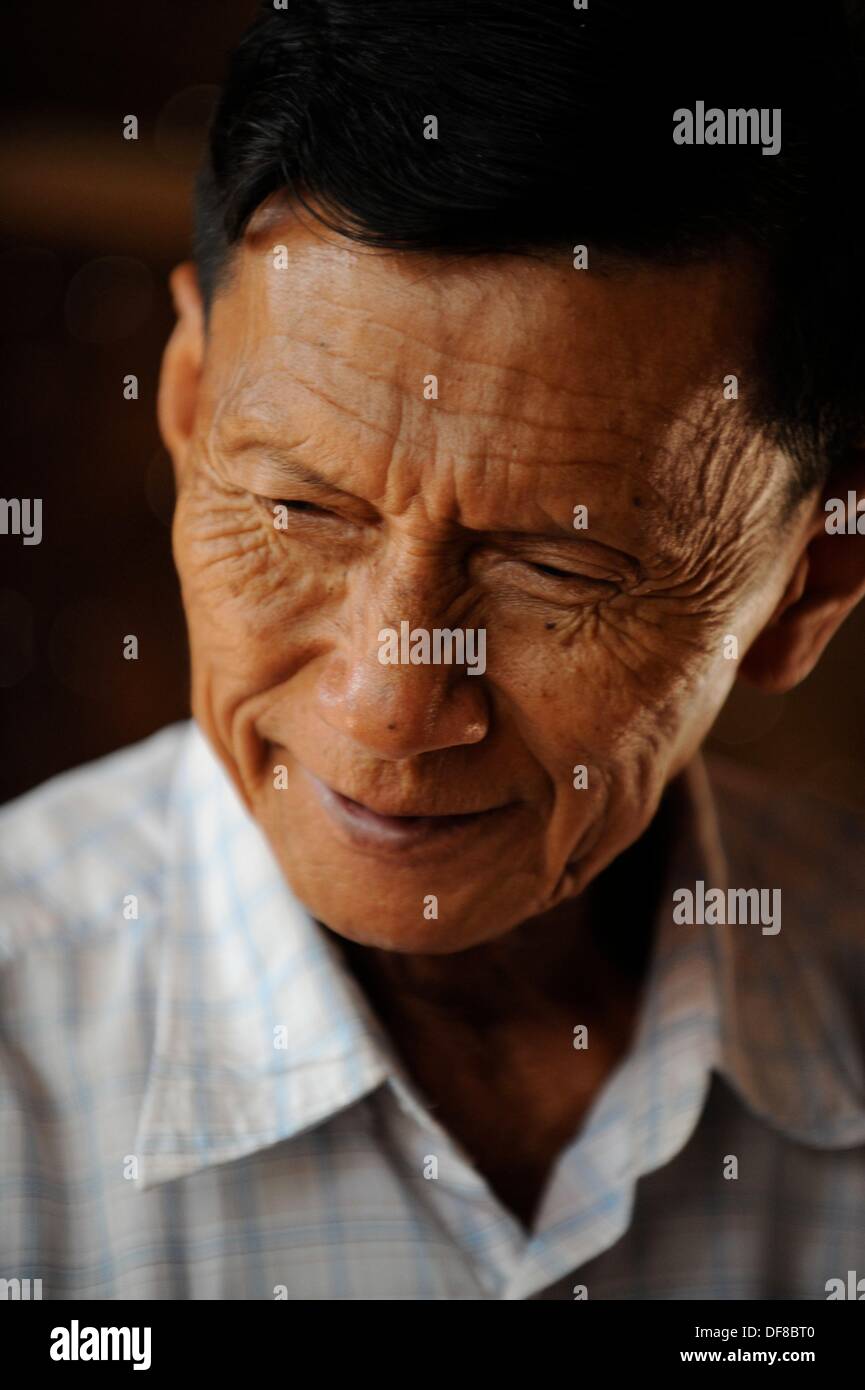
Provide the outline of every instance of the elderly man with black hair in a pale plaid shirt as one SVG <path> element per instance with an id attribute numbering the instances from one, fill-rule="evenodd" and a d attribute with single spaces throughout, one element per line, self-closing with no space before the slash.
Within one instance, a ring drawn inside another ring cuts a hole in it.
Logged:
<path id="1" fill-rule="evenodd" d="M 865 1275 L 862 827 L 700 752 L 865 591 L 859 35 L 658 8 L 235 54 L 159 402 L 193 720 L 3 817 L 45 1297 Z"/>

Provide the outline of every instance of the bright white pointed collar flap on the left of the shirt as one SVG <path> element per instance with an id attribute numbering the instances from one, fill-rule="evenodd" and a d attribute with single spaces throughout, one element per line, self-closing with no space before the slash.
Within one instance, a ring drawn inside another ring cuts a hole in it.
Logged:
<path id="1" fill-rule="evenodd" d="M 291 1138 L 394 1059 L 195 721 L 170 803 L 154 1038 L 134 1152 L 150 1187 Z"/>

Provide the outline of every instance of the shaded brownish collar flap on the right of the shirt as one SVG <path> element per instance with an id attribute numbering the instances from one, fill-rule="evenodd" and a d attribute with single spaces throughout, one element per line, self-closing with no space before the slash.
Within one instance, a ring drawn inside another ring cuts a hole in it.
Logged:
<path id="1" fill-rule="evenodd" d="M 834 885 L 820 881 L 815 916 L 801 865 L 783 840 L 769 844 L 768 806 L 761 815 L 759 802 L 719 802 L 702 758 L 688 766 L 681 787 L 690 830 L 679 849 L 677 887 L 694 890 L 701 877 L 705 892 L 782 890 L 777 934 L 750 923 L 670 927 L 702 937 L 712 955 L 718 1070 L 751 1113 L 789 1138 L 820 1148 L 862 1143 L 862 1048 L 844 999 L 837 941 L 834 949 L 829 941 Z M 722 840 L 719 803 L 727 816 L 744 817 L 734 855 Z M 818 870 L 829 878 L 825 866 Z M 668 903 L 662 910 L 672 915 Z"/>

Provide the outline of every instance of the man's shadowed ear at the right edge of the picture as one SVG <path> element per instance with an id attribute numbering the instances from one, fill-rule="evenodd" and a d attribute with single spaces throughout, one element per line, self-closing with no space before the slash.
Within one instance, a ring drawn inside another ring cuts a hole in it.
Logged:
<path id="1" fill-rule="evenodd" d="M 848 492 L 865 498 L 865 448 L 815 499 L 814 514 L 795 557 L 790 582 L 769 623 L 751 644 L 740 674 L 766 694 L 793 689 L 811 674 L 830 638 L 865 595 L 865 507 L 847 523 L 852 534 L 833 534 L 826 523 Z M 857 520 L 862 532 L 857 532 Z"/>

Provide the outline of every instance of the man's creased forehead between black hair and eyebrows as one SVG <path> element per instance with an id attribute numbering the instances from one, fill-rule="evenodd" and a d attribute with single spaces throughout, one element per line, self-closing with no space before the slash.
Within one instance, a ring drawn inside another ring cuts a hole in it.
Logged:
<path id="1" fill-rule="evenodd" d="M 570 253 L 384 253 L 266 210 L 214 304 L 209 424 L 373 491 L 455 464 L 573 489 L 583 466 L 651 506 L 674 500 L 679 463 L 741 455 L 725 378 L 751 370 L 758 306 L 744 260 L 598 274 Z"/>

